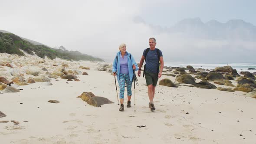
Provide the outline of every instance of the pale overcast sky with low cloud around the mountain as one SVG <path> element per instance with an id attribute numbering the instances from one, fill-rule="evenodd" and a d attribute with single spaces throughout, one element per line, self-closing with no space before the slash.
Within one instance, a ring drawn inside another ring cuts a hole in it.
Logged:
<path id="1" fill-rule="evenodd" d="M 197 60 L 182 58 L 177 53 L 196 51 L 198 45 L 230 45 L 211 40 L 188 43 L 190 40 L 175 39 L 175 35 L 154 33 L 151 26 L 171 27 L 180 20 L 195 17 L 204 23 L 241 19 L 256 26 L 255 6 L 255 0 L 0 0 L 0 29 L 107 61 L 114 59 L 120 43 L 126 43 L 127 51 L 139 60 L 148 47 L 148 38 L 155 37 L 157 47 L 168 56 L 164 57 L 167 61 L 204 62 L 201 53 L 194 53 L 194 59 L 198 55 Z M 144 23 L 135 23 L 135 17 L 141 17 Z M 215 55 L 220 52 L 211 54 L 209 62 L 221 57 Z M 239 53 L 228 57 L 234 56 Z"/>

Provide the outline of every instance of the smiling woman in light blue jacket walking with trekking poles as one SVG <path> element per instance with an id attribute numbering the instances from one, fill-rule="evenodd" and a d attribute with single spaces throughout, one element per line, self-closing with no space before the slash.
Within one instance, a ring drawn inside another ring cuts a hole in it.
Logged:
<path id="1" fill-rule="evenodd" d="M 124 111 L 124 93 L 125 93 L 125 83 L 127 89 L 127 108 L 131 107 L 131 84 L 133 78 L 133 70 L 138 70 L 138 65 L 135 62 L 133 56 L 126 51 L 125 43 L 119 46 L 119 52 L 117 52 L 116 57 L 113 62 L 112 72 L 117 75 L 118 84 L 120 88 L 120 108 L 119 111 Z"/>

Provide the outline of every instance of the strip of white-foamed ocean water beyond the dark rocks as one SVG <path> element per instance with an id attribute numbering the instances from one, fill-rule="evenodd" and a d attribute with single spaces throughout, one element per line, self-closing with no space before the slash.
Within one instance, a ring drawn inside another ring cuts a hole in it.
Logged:
<path id="1" fill-rule="evenodd" d="M 248 71 L 248 72 L 256 72 L 256 70 L 248 70 L 248 68 L 256 69 L 256 63 L 213 63 L 213 64 L 204 64 L 204 63 L 183 63 L 183 62 L 164 62 L 164 66 L 171 66 L 171 67 L 187 67 L 187 65 L 191 65 L 194 69 L 202 68 L 202 69 L 209 69 L 213 70 L 216 67 L 223 67 L 226 65 L 230 65 L 233 69 L 239 73 L 241 71 Z"/>

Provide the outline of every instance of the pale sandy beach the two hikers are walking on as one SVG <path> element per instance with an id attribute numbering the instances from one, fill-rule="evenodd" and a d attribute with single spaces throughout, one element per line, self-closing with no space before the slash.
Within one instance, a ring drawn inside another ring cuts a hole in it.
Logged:
<path id="1" fill-rule="evenodd" d="M 11 60 L 4 64 L 10 63 L 13 68 L 0 66 L 0 76 L 9 82 L 15 77 L 13 75 L 35 78 L 35 75 L 26 74 L 28 69 L 45 75 L 43 68 L 49 73 L 59 68 L 76 71 L 76 79 L 80 80 L 67 81 L 58 76 L 50 79 L 52 85 L 46 85 L 46 82 L 14 83 L 11 86 L 22 89 L 20 92 L 0 91 L 0 111 L 7 115 L 0 118 L 1 144 L 256 143 L 256 115 L 253 111 L 256 109 L 256 98 L 246 97 L 246 92 L 189 87 L 186 86 L 188 84 L 179 84 L 176 77 L 163 75 L 159 81 L 167 78 L 178 87 L 158 85 L 154 98 L 156 110 L 152 112 L 148 108 L 146 81 L 137 76 L 139 85 L 135 90 L 132 86 L 131 108 L 125 107 L 125 111 L 120 112 L 114 76 L 110 72 L 97 70 L 102 63 L 6 53 L 0 53 L 0 57 Z M 90 69 L 81 69 L 80 66 Z M 83 72 L 88 75 L 82 75 Z M 196 82 L 200 81 L 196 79 Z M 230 81 L 237 85 L 236 81 Z M 89 105 L 77 98 L 83 92 L 92 92 L 115 103 L 101 107 Z M 50 103 L 49 100 L 59 103 Z M 125 105 L 126 101 L 125 97 Z M 14 124 L 12 120 L 19 124 Z"/>

